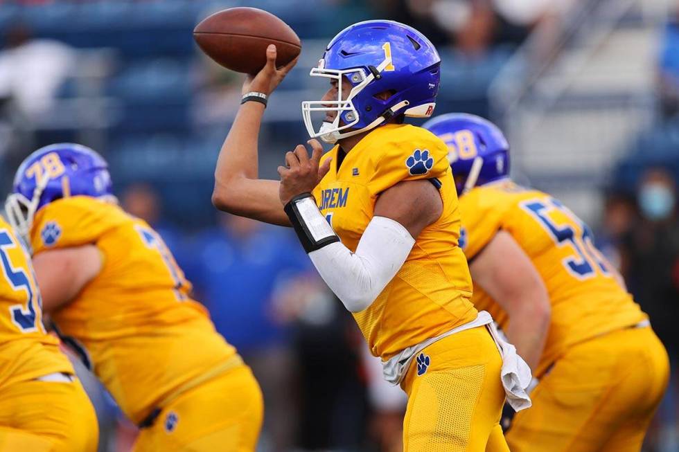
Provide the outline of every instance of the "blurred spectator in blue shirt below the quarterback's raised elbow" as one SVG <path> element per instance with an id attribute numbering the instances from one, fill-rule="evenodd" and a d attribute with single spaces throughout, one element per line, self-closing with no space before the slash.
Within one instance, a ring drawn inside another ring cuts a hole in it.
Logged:
<path id="1" fill-rule="evenodd" d="M 262 441 L 272 451 L 291 449 L 296 424 L 290 334 L 276 319 L 272 299 L 310 261 L 290 230 L 220 214 L 218 226 L 200 233 L 186 265 L 198 300 L 218 331 L 252 368 L 266 404 Z"/>

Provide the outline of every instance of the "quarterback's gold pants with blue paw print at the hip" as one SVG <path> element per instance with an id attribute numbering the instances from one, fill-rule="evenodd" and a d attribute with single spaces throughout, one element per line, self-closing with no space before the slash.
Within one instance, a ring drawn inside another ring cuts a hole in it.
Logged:
<path id="1" fill-rule="evenodd" d="M 508 452 L 499 424 L 501 368 L 486 327 L 452 334 L 418 354 L 401 383 L 408 395 L 405 452 Z"/>

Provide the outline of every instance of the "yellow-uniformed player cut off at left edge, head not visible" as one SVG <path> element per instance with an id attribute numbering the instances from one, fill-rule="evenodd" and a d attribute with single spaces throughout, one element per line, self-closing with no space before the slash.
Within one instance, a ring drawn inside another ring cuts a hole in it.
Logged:
<path id="1" fill-rule="evenodd" d="M 46 334 L 30 256 L 0 217 L 0 451 L 94 452 L 94 408 Z"/>

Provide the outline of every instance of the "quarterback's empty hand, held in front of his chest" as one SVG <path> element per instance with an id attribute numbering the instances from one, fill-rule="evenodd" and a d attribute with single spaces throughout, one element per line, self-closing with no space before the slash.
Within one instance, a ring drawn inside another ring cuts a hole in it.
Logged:
<path id="1" fill-rule="evenodd" d="M 321 161 L 323 155 L 321 143 L 317 140 L 309 140 L 307 143 L 313 149 L 311 158 L 309 158 L 306 147 L 298 145 L 294 148 L 294 151 L 285 154 L 287 166 L 279 166 L 279 174 L 281 174 L 279 197 L 283 206 L 297 195 L 312 192 L 330 170 L 332 159 L 327 159 L 319 167 L 319 161 Z"/>

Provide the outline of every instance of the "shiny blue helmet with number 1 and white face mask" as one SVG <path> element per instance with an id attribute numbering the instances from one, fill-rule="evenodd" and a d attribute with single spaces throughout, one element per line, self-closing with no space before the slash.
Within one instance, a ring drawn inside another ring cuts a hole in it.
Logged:
<path id="1" fill-rule="evenodd" d="M 353 24 L 330 41 L 311 70 L 312 77 L 337 80 L 337 100 L 302 102 L 304 124 L 311 138 L 326 143 L 366 132 L 399 114 L 429 118 L 439 93 L 441 58 L 434 45 L 412 27 L 387 20 Z M 342 99 L 342 77 L 352 89 Z M 378 94 L 391 93 L 387 99 Z M 336 111 L 332 123 L 319 130 L 313 111 Z"/>

